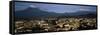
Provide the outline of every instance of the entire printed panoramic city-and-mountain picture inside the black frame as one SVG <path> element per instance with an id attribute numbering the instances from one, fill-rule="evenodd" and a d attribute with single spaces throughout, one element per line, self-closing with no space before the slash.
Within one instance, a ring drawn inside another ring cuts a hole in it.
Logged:
<path id="1" fill-rule="evenodd" d="M 15 2 L 14 33 L 97 29 L 96 6 Z"/>

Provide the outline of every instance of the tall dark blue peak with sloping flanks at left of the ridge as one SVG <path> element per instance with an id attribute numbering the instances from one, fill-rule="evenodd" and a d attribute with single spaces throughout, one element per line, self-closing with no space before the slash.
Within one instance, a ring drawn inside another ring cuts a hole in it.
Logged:
<path id="1" fill-rule="evenodd" d="M 16 16 L 23 16 L 23 17 L 32 17 L 32 16 L 55 16 L 58 15 L 57 13 L 47 12 L 40 10 L 38 8 L 27 8 L 25 10 L 20 10 L 15 12 Z"/>

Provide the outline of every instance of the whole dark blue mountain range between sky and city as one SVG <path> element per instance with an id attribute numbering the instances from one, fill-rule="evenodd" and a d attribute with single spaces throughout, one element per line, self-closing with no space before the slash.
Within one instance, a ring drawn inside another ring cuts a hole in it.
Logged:
<path id="1" fill-rule="evenodd" d="M 16 11 L 16 17 L 33 17 L 33 16 L 96 16 L 96 12 L 92 11 L 77 11 L 74 13 L 55 13 L 55 12 L 48 12 L 43 11 L 38 8 L 28 7 L 27 9 Z"/>

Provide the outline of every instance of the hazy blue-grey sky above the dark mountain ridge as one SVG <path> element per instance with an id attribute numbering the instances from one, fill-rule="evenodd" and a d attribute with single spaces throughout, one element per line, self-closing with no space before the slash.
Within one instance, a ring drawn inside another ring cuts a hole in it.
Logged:
<path id="1" fill-rule="evenodd" d="M 47 12 L 55 13 L 73 13 L 77 11 L 94 11 L 96 12 L 95 6 L 78 6 L 78 5 L 58 5 L 58 4 L 43 4 L 43 3 L 25 3 L 15 2 L 15 11 L 24 10 L 28 7 L 39 8 Z"/>

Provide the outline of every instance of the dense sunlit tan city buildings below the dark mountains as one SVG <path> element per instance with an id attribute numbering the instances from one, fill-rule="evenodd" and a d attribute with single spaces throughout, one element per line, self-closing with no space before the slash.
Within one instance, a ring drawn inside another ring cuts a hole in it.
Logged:
<path id="1" fill-rule="evenodd" d="M 77 31 L 96 28 L 96 18 L 44 18 L 15 21 L 15 33 Z"/>

